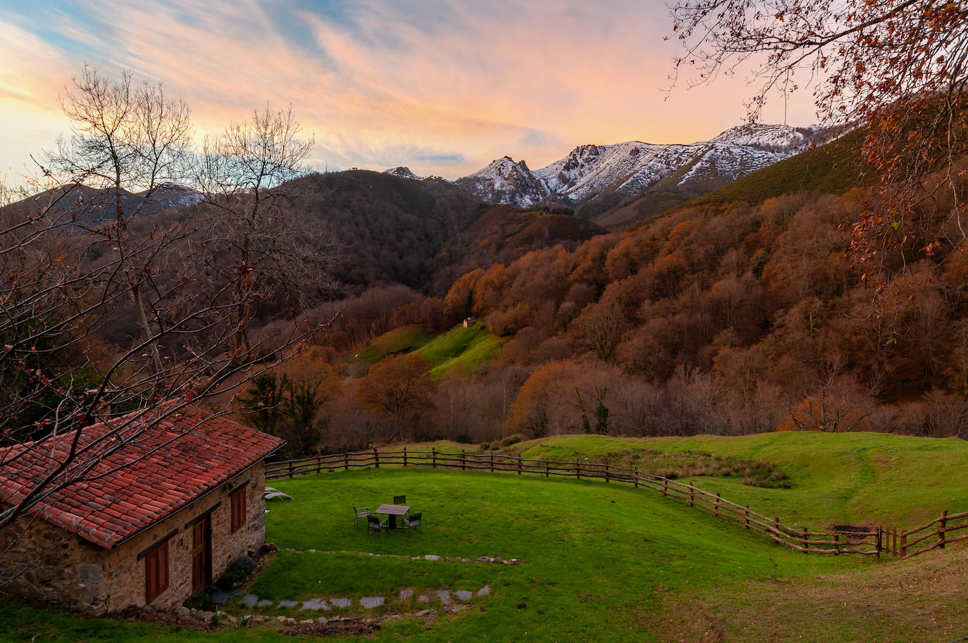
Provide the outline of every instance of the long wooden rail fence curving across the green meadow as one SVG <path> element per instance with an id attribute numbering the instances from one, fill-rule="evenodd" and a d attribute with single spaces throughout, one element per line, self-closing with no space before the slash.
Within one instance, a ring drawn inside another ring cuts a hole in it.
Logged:
<path id="1" fill-rule="evenodd" d="M 968 537 L 968 533 L 949 536 L 953 532 L 968 529 L 968 512 L 949 515 L 945 511 L 940 518 L 923 527 L 900 530 L 884 527 L 842 526 L 826 531 L 808 531 L 805 527 L 790 527 L 776 516 L 765 516 L 752 511 L 749 505 L 737 505 L 693 484 L 687 484 L 661 475 L 640 472 L 637 468 L 617 467 L 587 460 L 562 461 L 521 458 L 495 453 L 451 453 L 431 448 L 429 451 L 408 450 L 406 447 L 392 451 L 357 451 L 334 455 L 319 455 L 303 460 L 287 460 L 266 465 L 266 480 L 294 475 L 318 474 L 352 468 L 379 469 L 380 467 L 421 467 L 432 469 L 459 469 L 461 471 L 484 471 L 517 475 L 535 474 L 550 477 L 563 475 L 575 478 L 602 479 L 607 483 L 624 482 L 634 487 L 657 491 L 690 506 L 710 511 L 717 518 L 729 520 L 746 529 L 771 538 L 773 541 L 804 554 L 862 554 L 880 556 L 882 552 L 901 558 L 915 556 L 945 543 Z M 958 522 L 960 521 L 960 522 Z"/>

